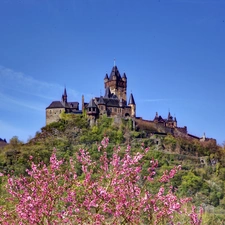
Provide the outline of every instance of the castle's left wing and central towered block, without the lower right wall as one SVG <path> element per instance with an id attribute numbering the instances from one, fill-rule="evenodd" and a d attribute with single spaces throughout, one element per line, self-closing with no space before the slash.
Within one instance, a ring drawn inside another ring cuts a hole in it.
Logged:
<path id="1" fill-rule="evenodd" d="M 46 108 L 46 125 L 60 119 L 62 112 L 81 114 L 86 110 L 90 125 L 93 125 L 101 115 L 108 117 L 135 117 L 136 104 L 134 96 L 131 93 L 127 104 L 127 77 L 123 76 L 117 66 L 112 68 L 110 76 L 106 74 L 104 78 L 105 95 L 95 97 L 90 100 L 89 104 L 84 102 L 82 96 L 82 110 L 79 110 L 78 102 L 68 102 L 66 88 L 62 95 L 61 101 L 53 101 Z"/>

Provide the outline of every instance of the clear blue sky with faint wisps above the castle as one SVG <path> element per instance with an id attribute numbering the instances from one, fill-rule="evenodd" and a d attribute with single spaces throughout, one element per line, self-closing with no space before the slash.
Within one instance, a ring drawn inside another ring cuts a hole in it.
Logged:
<path id="1" fill-rule="evenodd" d="M 1 0 L 0 138 L 34 137 L 64 87 L 104 93 L 114 59 L 137 116 L 225 141 L 224 0 Z"/>

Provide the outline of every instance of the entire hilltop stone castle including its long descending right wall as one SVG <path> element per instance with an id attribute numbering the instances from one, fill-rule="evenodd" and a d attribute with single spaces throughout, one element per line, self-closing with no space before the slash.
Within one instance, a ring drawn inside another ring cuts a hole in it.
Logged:
<path id="1" fill-rule="evenodd" d="M 89 103 L 84 102 L 82 96 L 82 109 L 79 109 L 78 102 L 68 102 L 66 88 L 62 95 L 61 101 L 53 101 L 46 108 L 46 125 L 58 121 L 61 112 L 82 114 L 86 111 L 90 125 L 96 124 L 96 121 L 102 115 L 119 119 L 131 119 L 134 129 L 146 129 L 153 133 L 172 134 L 174 136 L 184 136 L 191 139 L 205 141 L 207 138 L 196 137 L 188 134 L 187 127 L 178 127 L 176 117 L 168 113 L 167 118 L 162 118 L 156 112 L 153 120 L 144 120 L 141 117 L 136 117 L 136 104 L 134 96 L 131 93 L 127 102 L 127 76 L 125 73 L 120 75 L 117 66 L 113 66 L 110 75 L 106 74 L 104 78 L 105 94 L 104 96 L 94 97 Z"/>

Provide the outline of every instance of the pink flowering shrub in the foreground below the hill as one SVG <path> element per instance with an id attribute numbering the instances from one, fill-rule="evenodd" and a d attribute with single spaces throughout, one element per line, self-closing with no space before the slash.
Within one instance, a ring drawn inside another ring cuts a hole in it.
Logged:
<path id="1" fill-rule="evenodd" d="M 79 151 L 80 177 L 72 159 L 67 170 L 62 170 L 63 161 L 57 160 L 55 151 L 49 167 L 32 162 L 27 170 L 29 176 L 9 176 L 7 202 L 12 204 L 0 208 L 0 223 L 181 224 L 177 218 L 183 215 L 186 224 L 201 224 L 195 207 L 191 212 L 183 207 L 190 199 L 179 199 L 172 188 L 165 191 L 164 184 L 173 178 L 179 166 L 164 172 L 159 179 L 162 185 L 153 194 L 146 184 L 155 179 L 157 161 L 151 160 L 148 175 L 141 175 L 141 160 L 148 149 L 132 156 L 128 146 L 120 157 L 118 147 L 109 159 L 107 145 L 108 139 L 104 138 L 98 148 L 102 151 L 98 163 L 92 161 L 88 151 Z"/>

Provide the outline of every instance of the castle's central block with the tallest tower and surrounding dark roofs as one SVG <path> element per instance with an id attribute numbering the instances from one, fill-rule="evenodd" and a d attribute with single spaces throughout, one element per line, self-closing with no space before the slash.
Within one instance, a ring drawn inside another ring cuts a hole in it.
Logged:
<path id="1" fill-rule="evenodd" d="M 93 125 L 101 115 L 135 118 L 136 104 L 132 93 L 127 104 L 126 74 L 121 76 L 117 66 L 114 66 L 110 76 L 105 75 L 104 85 L 105 95 L 91 99 L 87 106 L 90 124 Z"/>

